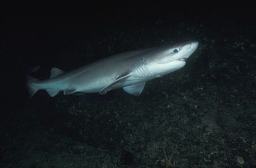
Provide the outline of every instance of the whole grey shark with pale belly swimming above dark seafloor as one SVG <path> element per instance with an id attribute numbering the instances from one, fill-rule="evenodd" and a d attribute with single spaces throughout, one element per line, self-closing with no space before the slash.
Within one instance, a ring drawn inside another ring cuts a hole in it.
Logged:
<path id="1" fill-rule="evenodd" d="M 64 95 L 106 94 L 123 88 L 127 93 L 138 96 L 148 80 L 185 66 L 186 59 L 197 47 L 198 42 L 184 42 L 116 54 L 70 72 L 52 68 L 50 79 L 37 80 L 28 76 L 28 90 L 31 96 L 39 89 L 55 96 L 60 91 Z"/>

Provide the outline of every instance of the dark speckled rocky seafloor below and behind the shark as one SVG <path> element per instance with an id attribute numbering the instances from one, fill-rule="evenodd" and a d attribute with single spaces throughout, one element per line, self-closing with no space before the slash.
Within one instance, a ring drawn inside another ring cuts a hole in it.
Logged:
<path id="1" fill-rule="evenodd" d="M 140 96 L 39 91 L 25 109 L 12 107 L 20 113 L 1 122 L 0 167 L 256 167 L 255 37 L 255 25 L 158 20 L 85 39 L 89 57 L 182 38 L 200 45 Z"/>

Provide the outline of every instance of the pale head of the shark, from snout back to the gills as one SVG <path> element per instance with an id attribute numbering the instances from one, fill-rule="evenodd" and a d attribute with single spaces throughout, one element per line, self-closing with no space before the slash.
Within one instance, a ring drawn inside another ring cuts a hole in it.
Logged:
<path id="1" fill-rule="evenodd" d="M 159 47 L 147 57 L 147 68 L 156 77 L 179 70 L 198 47 L 198 42 L 185 42 Z"/>

